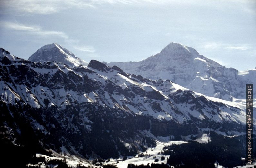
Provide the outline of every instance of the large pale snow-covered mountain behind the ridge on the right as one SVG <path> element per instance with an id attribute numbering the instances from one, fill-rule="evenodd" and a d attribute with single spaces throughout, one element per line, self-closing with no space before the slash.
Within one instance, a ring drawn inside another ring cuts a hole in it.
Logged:
<path id="1" fill-rule="evenodd" d="M 226 68 L 178 43 L 170 43 L 160 53 L 143 61 L 110 62 L 107 65 L 148 79 L 169 79 L 195 92 L 230 101 L 233 97 L 245 99 L 246 84 L 256 83 L 256 69 L 239 72 Z"/>

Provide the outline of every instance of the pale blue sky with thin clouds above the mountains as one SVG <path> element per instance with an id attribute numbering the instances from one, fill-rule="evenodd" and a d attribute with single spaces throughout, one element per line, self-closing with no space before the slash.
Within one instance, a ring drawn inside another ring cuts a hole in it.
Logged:
<path id="1" fill-rule="evenodd" d="M 0 47 L 28 59 L 58 43 L 89 62 L 141 61 L 170 42 L 256 67 L 256 1 L 0 0 Z"/>

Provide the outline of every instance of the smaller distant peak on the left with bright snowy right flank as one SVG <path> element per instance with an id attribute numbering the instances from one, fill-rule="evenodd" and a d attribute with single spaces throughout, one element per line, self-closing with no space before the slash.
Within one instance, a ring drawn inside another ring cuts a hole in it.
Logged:
<path id="1" fill-rule="evenodd" d="M 28 60 L 33 62 L 56 61 L 67 64 L 70 67 L 88 65 L 88 62 L 76 57 L 72 52 L 57 43 L 47 44 L 41 47 Z"/>

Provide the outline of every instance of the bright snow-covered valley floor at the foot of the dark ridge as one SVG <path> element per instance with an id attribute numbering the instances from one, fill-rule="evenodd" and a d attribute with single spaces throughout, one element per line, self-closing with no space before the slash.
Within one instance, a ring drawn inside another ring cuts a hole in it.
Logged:
<path id="1" fill-rule="evenodd" d="M 148 134 L 148 136 L 153 136 L 150 132 L 145 131 L 145 134 Z M 170 141 L 169 137 L 155 137 L 156 140 L 156 147 L 148 148 L 145 152 L 139 153 L 136 156 L 128 156 L 126 160 L 123 160 L 122 158 L 119 159 L 110 159 L 108 162 L 104 162 L 103 165 L 113 164 L 116 165 L 118 168 L 127 168 L 128 164 L 135 164 L 135 165 L 147 165 L 151 163 L 158 163 L 161 164 L 161 162 L 165 163 L 167 162 L 167 158 L 169 155 L 163 155 L 161 154 L 161 151 L 163 151 L 164 146 L 168 146 L 171 144 L 182 144 L 187 143 L 186 141 Z M 187 139 L 187 137 L 184 137 L 184 139 Z M 201 143 L 207 143 L 209 141 L 209 137 L 207 134 L 202 134 L 200 138 L 196 139 L 196 141 Z M 37 157 L 45 157 L 46 160 L 53 160 L 53 159 L 65 159 L 68 166 L 76 167 L 78 164 L 81 166 L 87 166 L 87 167 L 93 167 L 93 168 L 102 168 L 102 166 L 95 166 L 91 163 L 89 163 L 86 160 L 83 160 L 81 158 L 75 157 L 75 156 L 64 156 L 63 154 L 57 154 L 54 153 L 55 157 L 50 157 L 42 154 L 37 154 Z M 142 156 L 143 155 L 143 156 Z M 164 160 L 161 160 L 161 157 L 164 156 Z M 155 159 L 158 159 L 158 162 L 155 162 Z M 28 164 L 31 165 L 31 164 Z M 45 164 L 37 164 L 40 165 L 40 167 L 45 167 Z M 254 164 L 256 165 L 256 163 Z M 54 165 L 52 165 L 54 167 Z M 215 164 L 216 168 L 224 168 L 221 165 L 217 166 L 217 163 Z M 253 165 L 247 165 L 247 166 L 238 166 L 238 168 L 249 168 Z M 172 166 L 171 166 L 172 167 Z"/>

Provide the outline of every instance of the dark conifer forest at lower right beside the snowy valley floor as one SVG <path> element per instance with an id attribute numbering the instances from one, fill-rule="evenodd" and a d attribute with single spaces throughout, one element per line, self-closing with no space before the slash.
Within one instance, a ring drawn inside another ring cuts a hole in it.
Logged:
<path id="1" fill-rule="evenodd" d="M 245 157 L 245 136 L 226 137 L 216 132 L 209 132 L 211 141 L 188 143 L 164 147 L 164 155 L 170 155 L 167 164 L 175 167 L 214 168 L 217 161 L 224 167 L 236 167 L 245 165 L 242 157 Z M 254 140 L 255 141 L 255 140 Z M 255 148 L 253 148 L 255 151 Z"/>

